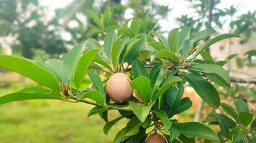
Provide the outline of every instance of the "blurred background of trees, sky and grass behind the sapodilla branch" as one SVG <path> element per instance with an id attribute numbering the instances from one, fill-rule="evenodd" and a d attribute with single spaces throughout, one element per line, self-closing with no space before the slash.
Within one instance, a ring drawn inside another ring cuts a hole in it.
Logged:
<path id="1" fill-rule="evenodd" d="M 252 52 L 256 49 L 255 5 L 255 0 L 0 0 L 0 54 L 39 61 L 61 59 L 68 49 L 88 38 L 101 41 L 104 31 L 93 21 L 92 11 L 99 16 L 109 14 L 110 19 L 117 21 L 116 26 L 133 18 L 150 21 L 153 29 L 165 36 L 176 27 L 191 26 L 192 34 L 213 28 L 219 34 L 241 36 L 209 49 L 214 59 L 232 59 L 225 66 L 232 88 L 219 89 L 221 99 L 229 102 L 245 96 L 255 111 L 255 84 L 251 84 L 256 81 L 256 56 Z M 4 69 L 0 69 L 0 77 L 0 96 L 38 86 Z M 192 98 L 193 108 L 176 117 L 180 122 L 202 121 L 211 110 L 195 95 L 191 88 L 186 88 L 185 96 Z M 112 142 L 125 122 L 119 122 L 120 128 L 111 129 L 106 136 L 103 120 L 97 116 L 87 118 L 91 108 L 82 103 L 55 101 L 1 105 L 0 142 Z M 117 113 L 111 114 L 114 118 Z"/>

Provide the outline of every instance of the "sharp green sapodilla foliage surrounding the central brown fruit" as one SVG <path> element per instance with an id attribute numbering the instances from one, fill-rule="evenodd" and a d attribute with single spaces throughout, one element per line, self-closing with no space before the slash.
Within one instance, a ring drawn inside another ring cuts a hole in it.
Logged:
<path id="1" fill-rule="evenodd" d="M 88 116 L 99 114 L 106 122 L 106 134 L 119 120 L 130 119 L 127 126 L 116 134 L 114 142 L 144 142 L 154 130 L 161 132 L 168 142 L 196 138 L 219 141 L 219 137 L 206 124 L 182 123 L 173 116 L 192 105 L 191 99 L 183 97 L 186 82 L 209 106 L 219 108 L 219 93 L 213 83 L 229 87 L 230 79 L 222 68 L 223 64 L 208 60 L 209 54 L 205 49 L 237 35 L 215 36 L 198 48 L 197 41 L 214 34 L 214 30 L 206 29 L 191 36 L 191 28 L 185 27 L 171 30 L 168 38 L 165 38 L 149 26 L 152 24 L 150 21 L 145 24 L 140 19 L 132 19 L 131 25 L 116 26 L 111 19 L 99 21 L 101 18 L 92 11 L 91 15 L 99 29 L 106 31 L 104 44 L 96 39 L 87 39 L 68 51 L 63 60 L 40 62 L 0 56 L 0 66 L 4 69 L 45 85 L 45 88 L 26 88 L 4 95 L 0 97 L 0 104 L 24 99 L 58 99 L 93 104 L 96 107 L 91 109 Z M 204 57 L 208 58 L 198 59 L 199 54 L 205 54 Z M 109 99 L 106 80 L 116 72 L 124 72 L 131 78 L 134 94 L 142 101 L 132 97 L 127 102 L 117 104 Z M 92 82 L 90 87 L 84 84 L 86 74 Z M 120 117 L 109 121 L 109 110 L 114 109 L 119 111 Z M 244 121 L 244 124 L 247 123 Z"/>

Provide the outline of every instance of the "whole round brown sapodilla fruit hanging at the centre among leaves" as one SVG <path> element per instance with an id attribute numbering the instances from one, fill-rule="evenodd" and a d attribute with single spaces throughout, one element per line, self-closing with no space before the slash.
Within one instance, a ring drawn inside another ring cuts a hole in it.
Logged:
<path id="1" fill-rule="evenodd" d="M 116 103 L 123 103 L 132 98 L 132 87 L 129 77 L 122 72 L 111 75 L 106 83 L 106 93 Z"/>

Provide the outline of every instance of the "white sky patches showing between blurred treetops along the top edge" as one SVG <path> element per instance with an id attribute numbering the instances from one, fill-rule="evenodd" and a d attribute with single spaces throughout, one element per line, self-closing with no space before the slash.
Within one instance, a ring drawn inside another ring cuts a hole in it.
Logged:
<path id="1" fill-rule="evenodd" d="M 62 0 L 60 1 L 52 1 L 52 0 L 40 0 L 40 3 L 44 6 L 48 6 L 51 11 L 56 8 L 61 8 L 66 6 L 72 0 Z M 155 0 L 157 1 L 157 0 Z M 188 9 L 188 2 L 183 0 L 158 0 L 158 4 L 168 5 L 169 8 L 172 9 L 170 14 L 168 15 L 167 20 L 160 21 L 160 25 L 163 27 L 163 30 L 169 31 L 170 29 L 178 26 L 175 22 L 175 18 L 181 16 L 182 14 L 193 14 L 193 9 Z M 256 10 L 256 0 L 221 0 L 221 4 L 219 4 L 219 8 L 228 8 L 234 4 L 235 6 L 239 6 L 239 15 L 244 14 L 247 11 L 255 11 Z M 224 28 L 227 29 L 227 28 Z"/>

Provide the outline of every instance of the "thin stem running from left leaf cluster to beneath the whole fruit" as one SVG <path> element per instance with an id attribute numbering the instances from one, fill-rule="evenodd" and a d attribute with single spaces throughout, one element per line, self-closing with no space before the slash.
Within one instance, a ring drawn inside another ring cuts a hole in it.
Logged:
<path id="1" fill-rule="evenodd" d="M 86 99 L 80 99 L 80 100 L 78 100 L 78 99 L 76 99 L 76 97 L 73 96 L 73 95 L 70 95 L 70 98 L 76 100 L 77 102 L 83 102 L 83 103 L 95 105 L 95 106 L 98 106 L 98 107 L 104 107 L 104 108 L 106 108 L 106 109 L 116 109 L 116 110 L 124 111 L 124 112 L 132 112 L 132 109 L 124 109 L 124 108 L 119 108 L 119 107 L 112 107 L 112 106 L 106 105 L 106 104 L 103 105 L 103 104 L 99 104 L 99 103 L 96 103 L 96 102 L 90 102 L 90 101 L 88 101 L 88 100 L 86 100 Z"/>

